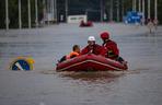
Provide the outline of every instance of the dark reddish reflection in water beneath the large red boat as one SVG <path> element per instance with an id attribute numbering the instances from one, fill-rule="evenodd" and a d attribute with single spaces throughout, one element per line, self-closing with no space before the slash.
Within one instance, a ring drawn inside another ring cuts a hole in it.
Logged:
<path id="1" fill-rule="evenodd" d="M 59 72 L 58 77 L 60 77 L 63 80 L 74 81 L 74 83 L 80 85 L 101 86 L 103 84 L 115 82 L 119 77 L 124 77 L 124 74 L 125 72 L 123 71 Z"/>

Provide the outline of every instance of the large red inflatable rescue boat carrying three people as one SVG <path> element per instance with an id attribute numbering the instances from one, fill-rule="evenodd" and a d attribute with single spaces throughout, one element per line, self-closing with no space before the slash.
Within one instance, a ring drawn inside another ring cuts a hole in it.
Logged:
<path id="1" fill-rule="evenodd" d="M 56 67 L 56 71 L 124 71 L 127 69 L 127 65 L 93 54 L 58 62 Z"/>

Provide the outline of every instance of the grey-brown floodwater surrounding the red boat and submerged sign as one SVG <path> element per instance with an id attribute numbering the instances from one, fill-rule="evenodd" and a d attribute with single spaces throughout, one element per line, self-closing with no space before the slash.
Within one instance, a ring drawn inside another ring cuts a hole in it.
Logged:
<path id="1" fill-rule="evenodd" d="M 109 31 L 126 72 L 56 72 L 57 60 L 90 35 Z M 0 105 L 161 105 L 162 27 L 95 23 L 93 27 L 59 24 L 44 28 L 0 31 Z M 11 71 L 19 56 L 35 60 L 33 71 Z"/>

